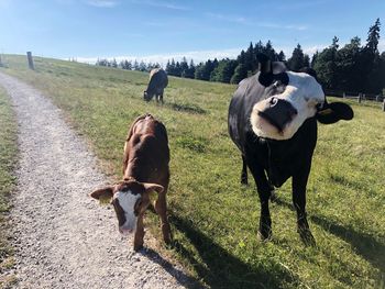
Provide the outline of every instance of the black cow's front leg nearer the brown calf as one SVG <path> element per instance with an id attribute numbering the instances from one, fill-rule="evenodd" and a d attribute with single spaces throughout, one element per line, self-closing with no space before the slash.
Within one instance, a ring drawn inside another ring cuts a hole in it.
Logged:
<path id="1" fill-rule="evenodd" d="M 248 157 L 246 157 L 248 159 Z M 254 177 L 256 190 L 261 202 L 261 219 L 258 235 L 261 240 L 267 240 L 272 236 L 272 218 L 268 209 L 268 199 L 271 197 L 271 186 L 267 181 L 265 171 L 255 164 L 249 163 L 249 168 Z"/>

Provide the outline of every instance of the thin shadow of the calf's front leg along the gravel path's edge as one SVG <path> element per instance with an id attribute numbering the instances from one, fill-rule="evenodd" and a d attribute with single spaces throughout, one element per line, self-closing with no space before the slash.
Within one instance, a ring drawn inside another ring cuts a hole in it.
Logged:
<path id="1" fill-rule="evenodd" d="M 175 268 L 173 264 L 164 259 L 157 252 L 153 251 L 152 248 L 142 249 L 140 251 L 140 254 L 162 266 L 170 276 L 173 276 L 178 281 L 179 285 L 191 289 L 201 287 L 198 280 Z"/>

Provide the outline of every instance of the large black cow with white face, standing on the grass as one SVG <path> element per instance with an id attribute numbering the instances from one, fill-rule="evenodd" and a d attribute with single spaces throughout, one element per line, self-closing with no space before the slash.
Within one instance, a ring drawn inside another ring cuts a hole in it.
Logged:
<path id="1" fill-rule="evenodd" d="M 229 108 L 229 133 L 242 153 L 241 182 L 248 184 L 249 167 L 261 201 L 258 235 L 266 240 L 272 234 L 268 200 L 274 187 L 292 177 L 298 233 L 312 244 L 305 207 L 317 121 L 351 120 L 353 111 L 345 103 L 327 102 L 312 69 L 288 71 L 265 55 L 258 60 L 260 71 L 240 82 Z"/>

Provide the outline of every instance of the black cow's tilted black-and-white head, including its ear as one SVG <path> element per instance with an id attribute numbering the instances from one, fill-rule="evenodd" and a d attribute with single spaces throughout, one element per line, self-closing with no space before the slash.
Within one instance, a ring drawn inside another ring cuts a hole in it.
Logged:
<path id="1" fill-rule="evenodd" d="M 251 113 L 254 133 L 261 137 L 288 140 L 302 123 L 316 116 L 321 123 L 351 120 L 353 110 L 345 103 L 328 103 L 314 70 L 287 71 L 282 63 L 260 55 L 258 81 L 265 87 L 265 99 Z"/>

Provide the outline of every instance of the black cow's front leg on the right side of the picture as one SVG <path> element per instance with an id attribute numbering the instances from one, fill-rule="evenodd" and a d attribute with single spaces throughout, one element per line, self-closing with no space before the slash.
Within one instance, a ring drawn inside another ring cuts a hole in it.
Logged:
<path id="1" fill-rule="evenodd" d="M 293 176 L 293 203 L 297 211 L 297 231 L 306 245 L 315 245 L 309 223 L 306 218 L 306 186 L 310 173 L 310 165 L 299 174 Z"/>

